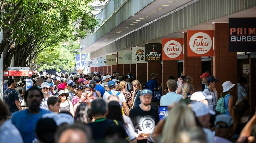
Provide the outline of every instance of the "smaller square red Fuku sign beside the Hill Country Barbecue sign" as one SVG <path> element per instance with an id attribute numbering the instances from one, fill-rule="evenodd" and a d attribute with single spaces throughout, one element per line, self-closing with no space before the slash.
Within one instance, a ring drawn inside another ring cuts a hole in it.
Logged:
<path id="1" fill-rule="evenodd" d="M 162 38 L 162 60 L 182 60 L 183 38 Z"/>

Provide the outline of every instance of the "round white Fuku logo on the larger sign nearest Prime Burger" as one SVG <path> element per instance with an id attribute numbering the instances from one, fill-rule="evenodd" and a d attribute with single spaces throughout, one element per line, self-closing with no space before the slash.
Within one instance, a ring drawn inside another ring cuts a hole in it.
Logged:
<path id="1" fill-rule="evenodd" d="M 197 54 L 205 54 L 212 47 L 211 37 L 203 32 L 195 33 L 189 40 L 190 49 Z"/>

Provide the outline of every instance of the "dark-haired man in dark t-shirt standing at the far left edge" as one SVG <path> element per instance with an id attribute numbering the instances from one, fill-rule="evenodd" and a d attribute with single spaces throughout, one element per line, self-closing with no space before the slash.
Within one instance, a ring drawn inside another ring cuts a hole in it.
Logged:
<path id="1" fill-rule="evenodd" d="M 19 102 L 19 96 L 16 88 L 16 82 L 14 79 L 9 79 L 7 81 L 8 89 L 3 94 L 3 99 L 5 103 L 9 107 L 10 115 L 12 115 L 14 112 L 22 110 Z"/>

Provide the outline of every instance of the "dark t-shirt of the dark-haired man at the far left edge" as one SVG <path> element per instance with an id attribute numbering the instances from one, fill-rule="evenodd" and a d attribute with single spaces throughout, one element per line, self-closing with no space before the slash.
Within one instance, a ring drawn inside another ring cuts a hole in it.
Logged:
<path id="1" fill-rule="evenodd" d="M 19 101 L 19 96 L 16 90 L 8 88 L 3 94 L 3 99 L 9 106 L 10 114 L 19 110 L 15 104 L 15 101 Z"/>

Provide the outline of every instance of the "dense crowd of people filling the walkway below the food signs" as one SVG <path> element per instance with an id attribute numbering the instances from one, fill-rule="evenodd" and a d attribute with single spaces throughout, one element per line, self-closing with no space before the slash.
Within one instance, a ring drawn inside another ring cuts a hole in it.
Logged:
<path id="1" fill-rule="evenodd" d="M 255 142 L 256 113 L 250 116 L 245 78 L 222 83 L 203 73 L 205 88 L 195 91 L 193 79 L 166 82 L 159 105 L 152 106 L 157 74 L 144 85 L 131 73 L 100 72 L 34 75 L 34 86 L 9 79 L 0 101 L 0 142 L 15 143 L 230 143 Z M 23 105 L 24 104 L 24 105 Z M 23 105 L 23 106 L 22 106 Z M 25 107 L 25 108 L 24 108 Z"/>

